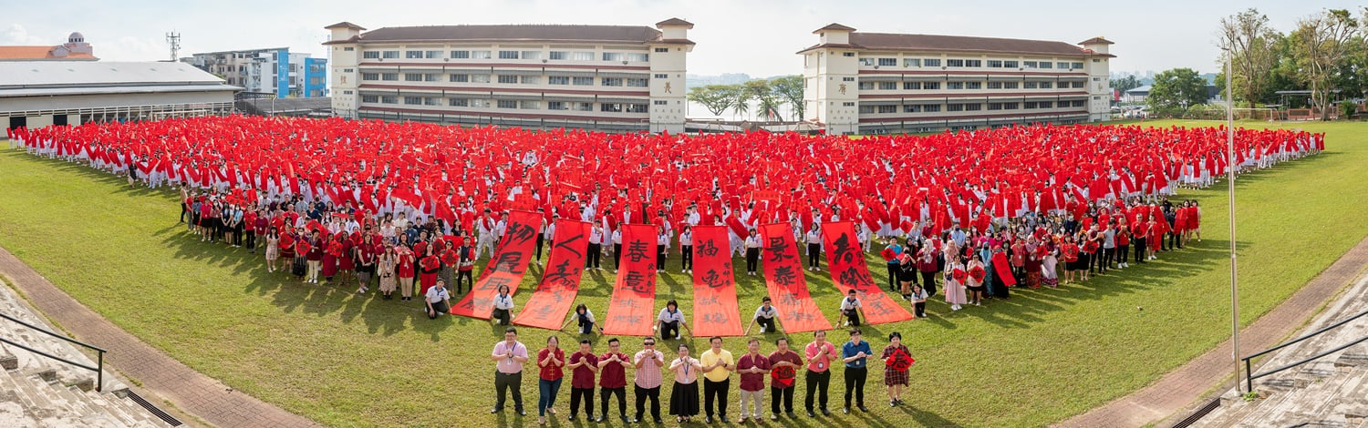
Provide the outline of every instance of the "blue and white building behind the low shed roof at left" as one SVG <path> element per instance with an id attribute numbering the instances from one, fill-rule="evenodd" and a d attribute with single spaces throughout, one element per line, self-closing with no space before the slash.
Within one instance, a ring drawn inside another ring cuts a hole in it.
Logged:
<path id="1" fill-rule="evenodd" d="M 257 97 L 326 97 L 327 59 L 290 48 L 193 53 L 182 59 Z"/>

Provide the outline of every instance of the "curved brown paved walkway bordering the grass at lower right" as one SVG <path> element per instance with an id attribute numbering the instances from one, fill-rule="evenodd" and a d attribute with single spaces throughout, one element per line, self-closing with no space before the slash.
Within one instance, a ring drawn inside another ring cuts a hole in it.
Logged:
<path id="1" fill-rule="evenodd" d="M 1320 272 L 1305 287 L 1253 324 L 1239 331 L 1239 351 L 1250 354 L 1272 347 L 1301 330 L 1317 309 L 1346 284 L 1353 283 L 1368 265 L 1368 238 L 1360 241 Z M 1060 427 L 1142 427 L 1159 424 L 1190 409 L 1202 397 L 1215 397 L 1234 375 L 1230 340 L 1164 375 L 1153 384 L 1122 397 L 1101 407 L 1071 417 Z M 1186 412 L 1182 414 L 1186 417 Z M 1175 423 L 1167 421 L 1167 423 Z"/>

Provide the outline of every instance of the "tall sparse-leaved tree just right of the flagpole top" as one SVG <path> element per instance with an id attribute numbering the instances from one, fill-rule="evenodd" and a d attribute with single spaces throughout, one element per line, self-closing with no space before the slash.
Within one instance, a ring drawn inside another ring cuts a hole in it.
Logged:
<path id="1" fill-rule="evenodd" d="M 1268 16 L 1256 8 L 1222 18 L 1220 33 L 1220 46 L 1231 55 L 1233 78 L 1239 82 L 1235 90 L 1253 107 L 1270 85 L 1270 71 L 1278 66 L 1276 44 L 1282 34 L 1270 27 Z"/>

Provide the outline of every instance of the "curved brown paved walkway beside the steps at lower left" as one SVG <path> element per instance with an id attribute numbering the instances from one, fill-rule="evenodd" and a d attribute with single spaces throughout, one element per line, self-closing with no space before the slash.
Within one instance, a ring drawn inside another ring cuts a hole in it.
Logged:
<path id="1" fill-rule="evenodd" d="M 308 418 L 233 391 L 153 349 L 77 302 L 5 249 L 0 249 L 0 275 L 77 339 L 108 350 L 105 362 L 129 379 L 142 383 L 142 390 L 183 412 L 218 427 L 317 427 Z"/>

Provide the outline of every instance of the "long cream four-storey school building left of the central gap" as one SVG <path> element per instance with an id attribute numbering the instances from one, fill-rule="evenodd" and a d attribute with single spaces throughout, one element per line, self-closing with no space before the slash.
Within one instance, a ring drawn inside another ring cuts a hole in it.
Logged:
<path id="1" fill-rule="evenodd" d="M 466 126 L 684 131 L 694 49 L 683 19 L 647 26 L 327 26 L 332 112 Z"/>

